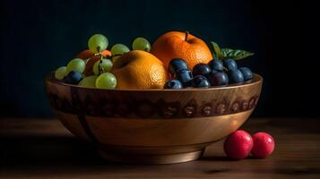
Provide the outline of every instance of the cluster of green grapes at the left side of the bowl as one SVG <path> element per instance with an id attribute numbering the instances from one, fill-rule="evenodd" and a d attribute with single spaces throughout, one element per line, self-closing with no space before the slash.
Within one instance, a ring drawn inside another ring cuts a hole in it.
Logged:
<path id="1" fill-rule="evenodd" d="M 99 55 L 100 59 L 93 64 L 91 72 L 94 75 L 85 76 L 83 73 L 86 69 L 86 64 L 92 60 L 74 58 L 66 66 L 61 66 L 56 69 L 55 78 L 69 84 L 79 85 L 89 88 L 99 89 L 115 89 L 117 86 L 117 79 L 110 71 L 113 63 L 117 58 L 125 53 L 130 52 L 129 47 L 124 44 L 116 44 L 111 47 L 111 56 L 104 56 L 101 54 L 108 47 L 108 38 L 101 34 L 95 34 L 88 40 L 88 48 L 94 54 Z M 145 38 L 135 38 L 132 45 L 134 50 L 150 51 L 151 44 Z"/>

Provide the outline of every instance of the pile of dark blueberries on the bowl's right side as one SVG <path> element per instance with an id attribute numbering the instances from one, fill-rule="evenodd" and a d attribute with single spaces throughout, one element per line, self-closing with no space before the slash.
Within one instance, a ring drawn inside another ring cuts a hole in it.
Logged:
<path id="1" fill-rule="evenodd" d="M 165 89 L 208 88 L 241 83 L 253 78 L 249 68 L 238 68 L 233 59 L 213 59 L 209 64 L 196 64 L 191 72 L 185 60 L 175 58 L 169 63 L 169 73 L 172 80 L 166 82 Z"/>

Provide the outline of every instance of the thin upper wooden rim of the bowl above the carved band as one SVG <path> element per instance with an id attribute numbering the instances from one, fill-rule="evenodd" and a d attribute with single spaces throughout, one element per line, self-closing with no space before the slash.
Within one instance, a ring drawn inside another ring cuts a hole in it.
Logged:
<path id="1" fill-rule="evenodd" d="M 214 87 L 209 87 L 209 88 L 186 88 L 186 89 L 145 89 L 145 90 L 138 90 L 138 89 L 95 89 L 95 88 L 90 88 L 90 87 L 82 87 L 82 86 L 78 86 L 78 85 L 74 85 L 74 84 L 68 84 L 65 83 L 63 81 L 58 81 L 54 78 L 54 72 L 50 72 L 48 73 L 48 75 L 46 75 L 45 77 L 45 81 L 46 82 L 52 82 L 61 86 L 66 86 L 66 87 L 74 87 L 77 89 L 82 89 L 82 90 L 97 90 L 97 91 L 135 91 L 135 92 L 139 92 L 139 91 L 155 91 L 155 92 L 172 92 L 172 91 L 206 91 L 206 90 L 225 90 L 225 89 L 233 89 L 233 88 L 239 88 L 239 87 L 246 87 L 246 86 L 252 86 L 255 85 L 257 83 L 262 83 L 264 81 L 264 78 L 257 74 L 254 73 L 254 78 L 250 81 L 245 81 L 242 83 L 233 83 L 233 84 L 228 84 L 228 85 L 224 85 L 224 86 L 214 86 Z"/>

